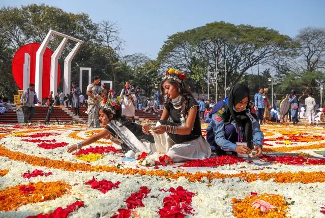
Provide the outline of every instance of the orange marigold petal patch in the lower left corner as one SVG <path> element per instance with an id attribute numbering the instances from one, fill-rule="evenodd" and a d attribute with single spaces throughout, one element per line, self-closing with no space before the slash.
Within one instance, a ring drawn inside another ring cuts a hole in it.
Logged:
<path id="1" fill-rule="evenodd" d="M 28 189 L 27 189 L 28 187 Z M 32 189 L 29 187 L 33 187 Z M 0 191 L 0 208 L 3 211 L 17 210 L 25 204 L 33 204 L 53 200 L 66 194 L 71 186 L 61 181 L 30 182 L 26 185 L 16 185 Z M 22 192 L 21 190 L 27 190 Z M 28 191 L 30 190 L 30 191 Z"/>

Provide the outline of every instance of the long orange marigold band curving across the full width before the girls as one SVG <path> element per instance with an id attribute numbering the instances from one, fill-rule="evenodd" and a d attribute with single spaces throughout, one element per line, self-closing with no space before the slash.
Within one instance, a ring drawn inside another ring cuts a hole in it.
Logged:
<path id="1" fill-rule="evenodd" d="M 0 155 L 8 157 L 14 161 L 22 161 L 33 166 L 49 167 L 55 169 L 64 169 L 67 171 L 97 171 L 97 172 L 115 172 L 123 175 L 147 175 L 147 176 L 163 176 L 169 179 L 178 179 L 180 177 L 185 177 L 189 181 L 201 181 L 202 178 L 206 177 L 209 180 L 213 179 L 224 179 L 224 178 L 234 178 L 239 177 L 247 182 L 252 182 L 256 180 L 268 181 L 274 179 L 278 183 L 293 183 L 301 182 L 304 184 L 314 183 L 314 182 L 325 182 L 325 172 L 279 172 L 279 173 L 264 173 L 260 172 L 258 174 L 254 173 L 237 173 L 237 174 L 223 174 L 219 172 L 196 172 L 194 174 L 189 172 L 177 172 L 166 170 L 144 170 L 144 169 L 132 169 L 125 168 L 120 169 L 118 167 L 110 166 L 88 166 L 82 163 L 71 163 L 66 161 L 50 160 L 47 158 L 35 157 L 33 155 L 27 155 L 18 151 L 11 151 L 2 145 L 0 145 Z"/>

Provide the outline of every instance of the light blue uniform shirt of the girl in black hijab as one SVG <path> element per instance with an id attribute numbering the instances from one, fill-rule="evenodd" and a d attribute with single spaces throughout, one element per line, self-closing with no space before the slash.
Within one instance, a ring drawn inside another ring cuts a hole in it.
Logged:
<path id="1" fill-rule="evenodd" d="M 212 121 L 210 122 L 208 128 L 206 128 L 206 141 L 209 142 L 210 145 L 213 144 L 213 141 L 215 141 L 215 143 L 221 147 L 222 150 L 224 151 L 235 151 L 236 148 L 236 144 L 228 141 L 225 139 L 225 134 L 224 134 L 224 126 L 225 126 L 225 117 L 223 116 L 221 120 L 218 121 L 218 119 L 216 119 L 216 112 L 224 107 L 224 105 L 226 105 L 227 110 L 228 109 L 228 98 L 226 98 L 223 101 L 218 102 L 218 104 L 214 107 L 213 112 L 212 112 Z M 250 113 L 249 111 L 247 111 L 248 113 Z M 220 116 L 219 116 L 220 117 Z M 237 129 L 237 125 L 235 123 L 235 121 L 233 120 L 231 122 L 231 124 L 235 127 L 237 133 L 238 133 L 238 129 Z M 252 134 L 253 134 L 253 142 L 255 144 L 255 146 L 260 145 L 262 146 L 263 144 L 263 139 L 264 139 L 264 135 L 262 133 L 262 131 L 260 130 L 260 126 L 257 120 L 255 120 L 252 123 Z M 213 146 L 213 145 L 212 145 Z M 212 147 L 212 149 L 214 149 L 214 147 Z"/>

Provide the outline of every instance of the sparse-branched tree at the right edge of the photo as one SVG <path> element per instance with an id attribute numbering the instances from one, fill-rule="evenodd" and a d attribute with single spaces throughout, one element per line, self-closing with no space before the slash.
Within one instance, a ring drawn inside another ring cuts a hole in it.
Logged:
<path id="1" fill-rule="evenodd" d="M 294 38 L 293 45 L 268 60 L 282 78 L 277 89 L 288 93 L 295 88 L 301 93 L 308 91 L 315 94 L 319 87 L 316 80 L 324 78 L 321 71 L 325 69 L 325 29 L 303 28 Z M 317 95 L 314 97 L 317 98 Z"/>

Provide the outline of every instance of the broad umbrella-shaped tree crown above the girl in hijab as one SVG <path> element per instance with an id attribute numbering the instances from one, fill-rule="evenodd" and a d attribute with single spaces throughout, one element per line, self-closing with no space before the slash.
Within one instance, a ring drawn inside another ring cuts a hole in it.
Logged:
<path id="1" fill-rule="evenodd" d="M 158 58 L 162 66 L 179 67 L 190 74 L 197 59 L 210 69 L 215 69 L 216 64 L 217 69 L 224 69 L 226 60 L 226 76 L 231 85 L 237 83 L 248 69 L 291 44 L 288 36 L 274 29 L 213 22 L 169 36 Z"/>

